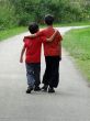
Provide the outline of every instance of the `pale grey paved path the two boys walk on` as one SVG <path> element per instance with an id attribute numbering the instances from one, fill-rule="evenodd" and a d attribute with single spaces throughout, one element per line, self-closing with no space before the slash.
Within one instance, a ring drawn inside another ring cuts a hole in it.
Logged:
<path id="1" fill-rule="evenodd" d="M 65 51 L 56 92 L 25 94 L 25 68 L 19 57 L 26 34 L 0 42 L 0 121 L 90 121 L 90 88 Z M 42 75 L 44 68 L 42 56 Z"/>

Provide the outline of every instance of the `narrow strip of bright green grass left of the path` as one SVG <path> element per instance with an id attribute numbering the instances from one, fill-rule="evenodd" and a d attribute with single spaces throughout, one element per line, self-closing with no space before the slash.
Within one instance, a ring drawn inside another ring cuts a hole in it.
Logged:
<path id="1" fill-rule="evenodd" d="M 25 31 L 27 31 L 27 29 L 24 26 L 0 31 L 0 41 L 5 40 L 10 36 L 20 34 L 20 33 L 25 32 Z"/>

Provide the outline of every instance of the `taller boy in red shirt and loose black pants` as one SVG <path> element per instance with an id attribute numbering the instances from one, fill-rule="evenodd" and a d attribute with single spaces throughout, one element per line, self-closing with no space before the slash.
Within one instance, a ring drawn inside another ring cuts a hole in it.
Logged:
<path id="1" fill-rule="evenodd" d="M 45 16 L 45 23 L 47 25 L 46 29 L 38 32 L 37 34 L 34 34 L 34 36 L 46 36 L 49 37 L 54 33 L 53 22 L 54 16 L 50 14 L 47 14 Z M 59 32 L 57 32 L 55 40 L 50 43 L 44 43 L 44 55 L 45 55 L 45 63 L 46 63 L 46 69 L 45 74 L 43 76 L 43 84 L 42 90 L 48 92 L 55 92 L 54 88 L 58 86 L 59 81 L 59 61 L 61 59 L 61 35 Z"/>

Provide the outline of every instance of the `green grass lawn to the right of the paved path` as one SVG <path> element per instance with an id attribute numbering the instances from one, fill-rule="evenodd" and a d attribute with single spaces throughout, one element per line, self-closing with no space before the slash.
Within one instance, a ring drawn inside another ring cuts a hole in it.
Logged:
<path id="1" fill-rule="evenodd" d="M 90 81 L 90 28 L 67 32 L 63 46 L 74 56 L 82 74 Z"/>

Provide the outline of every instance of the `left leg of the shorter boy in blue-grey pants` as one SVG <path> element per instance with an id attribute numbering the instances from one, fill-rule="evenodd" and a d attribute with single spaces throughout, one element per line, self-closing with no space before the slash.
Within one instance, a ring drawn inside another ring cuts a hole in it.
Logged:
<path id="1" fill-rule="evenodd" d="M 34 68 L 32 64 L 26 64 L 26 77 L 27 77 L 27 85 L 29 87 L 34 87 Z"/>

